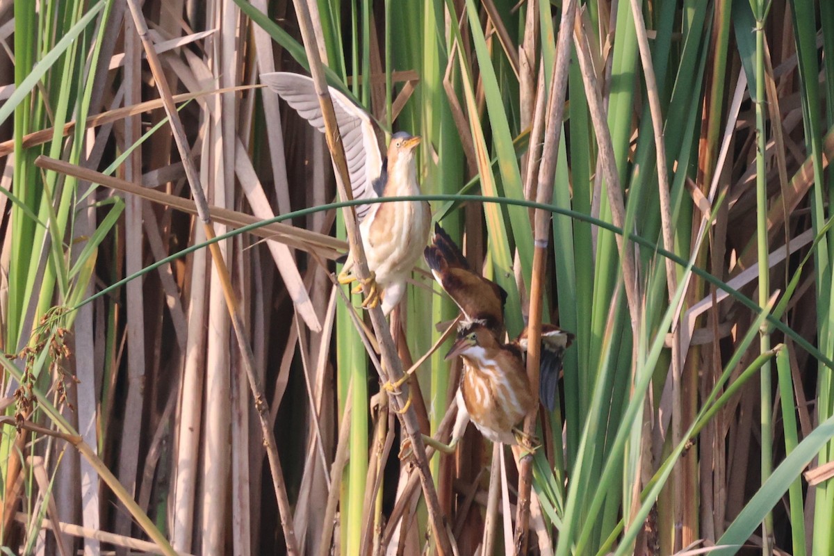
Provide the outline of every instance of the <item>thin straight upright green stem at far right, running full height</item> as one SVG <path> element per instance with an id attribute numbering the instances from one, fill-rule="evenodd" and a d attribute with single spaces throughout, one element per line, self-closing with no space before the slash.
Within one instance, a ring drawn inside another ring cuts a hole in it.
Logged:
<path id="1" fill-rule="evenodd" d="M 756 247 L 759 259 L 759 304 L 765 307 L 770 292 L 770 265 L 767 262 L 767 173 L 765 168 L 765 18 L 763 0 L 754 8 L 756 15 Z M 768 326 L 759 329 L 761 353 L 771 349 Z M 771 423 L 771 360 L 761 366 L 759 374 L 761 408 L 761 484 L 773 473 L 772 423 Z M 761 553 L 767 556 L 773 552 L 773 514 L 766 513 L 761 522 Z"/>

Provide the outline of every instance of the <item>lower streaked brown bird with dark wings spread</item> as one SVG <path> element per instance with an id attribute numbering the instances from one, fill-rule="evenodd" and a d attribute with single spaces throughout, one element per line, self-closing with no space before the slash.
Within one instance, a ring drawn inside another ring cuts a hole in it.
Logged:
<path id="1" fill-rule="evenodd" d="M 464 315 L 457 340 L 446 355 L 447 359 L 460 355 L 464 363 L 452 443 L 428 443 L 453 451 L 466 420 L 471 420 L 493 442 L 520 443 L 530 448 L 531 439 L 516 428 L 536 407 L 526 373 L 527 329 L 513 342 L 505 343 L 504 290 L 474 273 L 460 248 L 440 226 L 435 226 L 425 259 L 437 282 Z M 562 358 L 572 341 L 573 334 L 551 324 L 542 325 L 539 390 L 542 403 L 551 411 Z"/>

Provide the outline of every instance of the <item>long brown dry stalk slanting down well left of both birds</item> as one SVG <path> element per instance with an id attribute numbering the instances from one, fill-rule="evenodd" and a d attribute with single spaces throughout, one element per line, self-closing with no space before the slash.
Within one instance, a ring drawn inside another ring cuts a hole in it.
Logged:
<path id="1" fill-rule="evenodd" d="M 177 143 L 179 156 L 183 161 L 183 169 L 185 171 L 186 178 L 188 178 L 188 187 L 191 188 L 194 203 L 196 203 L 197 206 L 198 217 L 203 223 L 206 238 L 209 240 L 214 239 L 214 227 L 212 226 L 211 218 L 208 214 L 208 203 L 206 202 L 205 194 L 203 193 L 202 184 L 199 181 L 197 169 L 194 168 L 188 143 L 185 139 L 183 123 L 179 119 L 179 113 L 173 104 L 171 91 L 168 88 L 168 81 L 163 73 L 162 65 L 159 63 L 156 50 L 153 48 L 151 38 L 148 36 L 148 24 L 145 22 L 142 10 L 139 8 L 136 0 L 128 0 L 128 7 L 133 15 L 133 21 L 136 24 L 137 34 L 139 38 L 142 39 L 142 44 L 148 57 L 148 66 L 150 66 L 153 78 L 157 83 L 159 96 L 165 107 L 165 113 L 168 114 L 168 122 L 171 124 L 173 138 Z M 292 508 L 289 505 L 287 488 L 284 484 L 284 472 L 281 469 L 278 449 L 275 445 L 275 435 L 272 431 L 272 427 L 270 426 L 269 405 L 266 402 L 264 386 L 261 383 L 258 374 L 255 373 L 254 353 L 252 353 L 252 346 L 249 343 L 249 338 L 247 337 L 246 330 L 244 328 L 244 322 L 240 316 L 238 300 L 234 294 L 232 281 L 229 276 L 229 268 L 226 266 L 223 253 L 221 253 L 218 243 L 212 243 L 208 248 L 211 252 L 214 265 L 217 268 L 220 283 L 223 285 L 226 306 L 229 308 L 229 316 L 232 319 L 234 335 L 238 340 L 241 356 L 244 361 L 244 369 L 246 371 L 247 378 L 249 379 L 249 388 L 252 391 L 255 409 L 258 412 L 261 433 L 264 434 L 264 448 L 266 449 L 267 458 L 269 459 L 269 472 L 272 475 L 275 498 L 278 502 L 280 513 L 281 527 L 284 530 L 284 541 L 287 545 L 287 553 L 299 554 L 298 543 L 295 538 L 295 530 L 293 527 Z"/>

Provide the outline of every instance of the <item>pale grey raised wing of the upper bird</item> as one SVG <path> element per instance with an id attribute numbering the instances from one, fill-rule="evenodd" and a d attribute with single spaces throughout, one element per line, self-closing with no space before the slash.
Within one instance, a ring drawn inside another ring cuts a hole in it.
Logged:
<path id="1" fill-rule="evenodd" d="M 299 73 L 286 72 L 262 73 L 260 78 L 261 83 L 284 98 L 299 116 L 324 133 L 324 118 L 313 79 Z M 330 98 L 333 98 L 336 122 L 339 123 L 339 134 L 344 145 L 344 156 L 348 163 L 354 198 L 379 197 L 374 190 L 374 180 L 382 173 L 383 160 L 375 124 L 368 113 L 339 90 L 329 87 L 329 91 Z M 360 222 L 369 212 L 369 208 L 370 205 L 367 204 L 356 207 L 356 216 Z"/>

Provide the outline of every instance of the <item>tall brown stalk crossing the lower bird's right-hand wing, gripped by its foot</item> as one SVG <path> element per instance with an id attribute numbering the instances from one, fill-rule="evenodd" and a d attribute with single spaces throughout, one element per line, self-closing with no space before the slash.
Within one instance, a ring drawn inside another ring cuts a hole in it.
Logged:
<path id="1" fill-rule="evenodd" d="M 536 201 L 550 204 L 553 199 L 553 179 L 556 171 L 556 156 L 562 130 L 562 118 L 565 114 L 565 93 L 568 85 L 568 67 L 570 65 L 571 27 L 576 12 L 575 0 L 568 0 L 562 7 L 559 24 L 559 38 L 554 61 L 553 80 L 548 93 L 548 122 L 545 131 L 545 145 L 542 148 L 539 180 L 536 188 Z M 540 68 L 540 71 L 545 71 Z M 540 103 L 545 99 L 541 98 Z M 530 168 L 530 171 L 532 168 Z M 535 392 L 539 393 L 539 364 L 541 348 L 541 314 L 542 298 L 545 287 L 545 262 L 550 239 L 550 213 L 542 209 L 535 211 L 534 226 L 533 275 L 530 280 L 530 320 L 527 328 L 527 376 Z M 536 403 L 538 409 L 538 403 Z M 524 431 L 530 437 L 535 435 L 535 422 L 538 411 L 525 418 Z M 533 471 L 533 459 L 523 458 L 519 468 L 519 495 L 515 509 L 515 553 L 526 554 L 530 529 L 530 487 Z"/>

